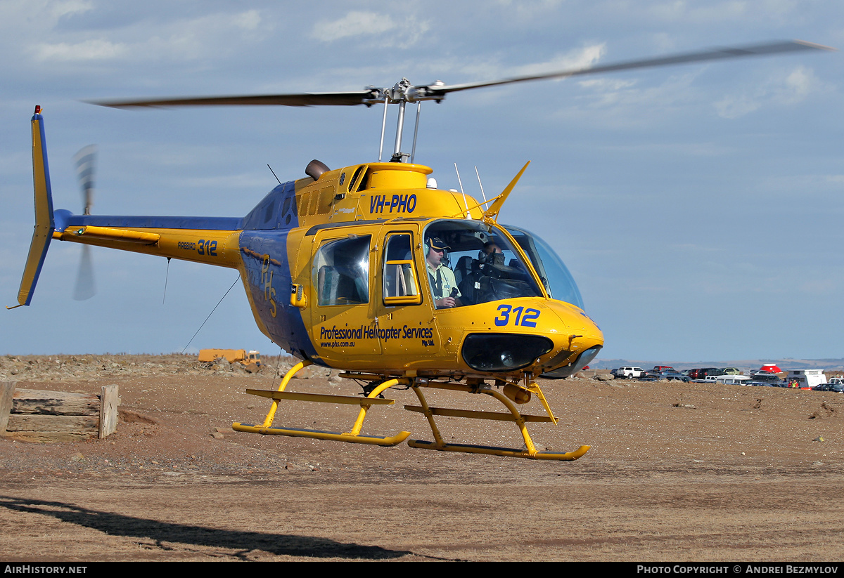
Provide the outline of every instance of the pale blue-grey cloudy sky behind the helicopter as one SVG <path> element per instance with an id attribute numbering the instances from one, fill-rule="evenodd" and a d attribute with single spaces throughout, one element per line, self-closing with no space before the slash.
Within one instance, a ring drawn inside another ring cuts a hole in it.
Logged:
<path id="1" fill-rule="evenodd" d="M 0 0 L 2 304 L 32 234 L 35 104 L 56 208 L 82 211 L 72 158 L 95 143 L 93 213 L 242 217 L 277 184 L 267 164 L 286 181 L 312 158 L 376 160 L 381 108 L 84 101 L 466 83 L 791 39 L 844 48 L 844 4 Z M 844 54 L 817 51 L 466 91 L 422 105 L 416 162 L 441 188 L 457 163 L 479 196 L 475 167 L 490 195 L 532 161 L 499 221 L 560 254 L 599 358 L 840 358 L 842 80 Z M 240 282 L 220 302 L 234 270 L 91 254 L 97 294 L 78 302 L 81 247 L 51 244 L 31 306 L 0 310 L 0 354 L 278 352 Z"/>

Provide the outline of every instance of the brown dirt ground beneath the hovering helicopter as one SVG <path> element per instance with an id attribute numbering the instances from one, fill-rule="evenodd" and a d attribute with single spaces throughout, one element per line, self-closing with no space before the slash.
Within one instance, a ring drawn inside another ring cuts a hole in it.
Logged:
<path id="1" fill-rule="evenodd" d="M 273 378 L 180 356 L 4 356 L 0 379 L 21 388 L 116 383 L 123 419 L 104 440 L 0 439 L 0 559 L 841 559 L 838 393 L 543 380 L 560 424 L 532 424 L 534 441 L 592 446 L 544 462 L 232 431 L 263 419 L 268 400 L 244 392 Z M 312 372 L 288 390 L 360 388 Z M 432 439 L 424 416 L 403 410 L 414 394 L 388 393 L 397 403 L 374 407 L 364 431 Z M 431 398 L 499 410 L 488 396 Z M 275 423 L 347 431 L 355 414 L 289 402 Z M 511 423 L 438 422 L 453 442 L 522 445 Z"/>

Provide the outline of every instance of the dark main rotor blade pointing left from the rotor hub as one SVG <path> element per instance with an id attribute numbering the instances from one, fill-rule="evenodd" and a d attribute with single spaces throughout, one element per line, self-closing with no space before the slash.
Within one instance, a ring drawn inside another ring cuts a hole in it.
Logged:
<path id="1" fill-rule="evenodd" d="M 181 99 L 154 100 L 88 100 L 90 104 L 128 109 L 140 106 L 226 106 L 230 104 L 275 104 L 281 106 L 354 106 L 378 102 L 376 90 L 358 90 L 347 93 L 257 94 L 253 96 L 185 97 Z M 381 99 L 383 102 L 383 99 Z"/>

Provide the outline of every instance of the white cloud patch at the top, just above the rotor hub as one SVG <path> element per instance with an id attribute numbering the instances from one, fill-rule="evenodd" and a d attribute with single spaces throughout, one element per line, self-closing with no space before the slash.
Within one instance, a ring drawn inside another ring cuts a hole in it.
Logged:
<path id="1" fill-rule="evenodd" d="M 389 14 L 354 11 L 341 19 L 323 20 L 314 24 L 311 37 L 323 42 L 333 42 L 353 36 L 378 35 L 383 45 L 412 45 L 429 28 L 427 21 L 417 21 L 413 15 L 403 21 L 396 21 Z M 387 32 L 390 35 L 385 35 Z"/>

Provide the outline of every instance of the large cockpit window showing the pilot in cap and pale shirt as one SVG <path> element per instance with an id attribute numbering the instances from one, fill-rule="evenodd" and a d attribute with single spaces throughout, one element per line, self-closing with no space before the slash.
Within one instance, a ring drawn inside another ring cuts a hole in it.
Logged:
<path id="1" fill-rule="evenodd" d="M 441 220 L 425 227 L 425 261 L 437 308 L 474 305 L 542 291 L 499 227 Z"/>

